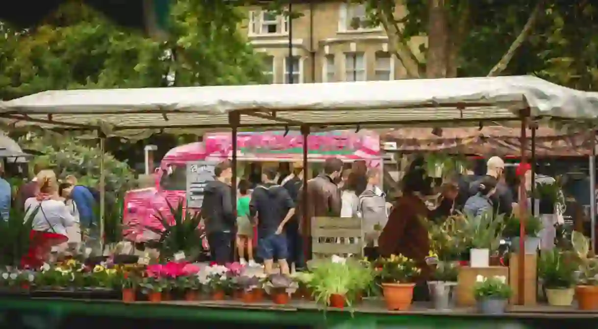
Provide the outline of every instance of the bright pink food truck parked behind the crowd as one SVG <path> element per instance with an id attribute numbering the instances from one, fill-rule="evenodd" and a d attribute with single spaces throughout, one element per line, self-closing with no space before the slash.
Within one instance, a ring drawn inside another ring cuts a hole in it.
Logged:
<path id="1" fill-rule="evenodd" d="M 261 178 L 261 168 L 303 159 L 303 136 L 299 132 L 241 132 L 237 135 L 237 175 L 254 184 Z M 126 239 L 144 242 L 157 239 L 147 227 L 160 228 L 156 214 L 168 212 L 170 205 L 186 205 L 187 164 L 197 161 L 219 162 L 230 159 L 230 133 L 210 133 L 203 142 L 175 147 L 161 160 L 155 172 L 155 187 L 127 192 L 123 224 Z M 312 133 L 307 144 L 310 170 L 313 176 L 320 163 L 329 157 L 344 162 L 364 160 L 368 167 L 382 166 L 380 140 L 376 132 L 362 130 Z M 206 245 L 207 247 L 207 245 Z"/>

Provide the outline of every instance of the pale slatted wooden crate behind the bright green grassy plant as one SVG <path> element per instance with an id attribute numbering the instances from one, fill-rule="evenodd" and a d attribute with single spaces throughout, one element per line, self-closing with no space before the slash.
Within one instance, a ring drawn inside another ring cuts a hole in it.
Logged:
<path id="1" fill-rule="evenodd" d="M 364 254 L 361 218 L 314 217 L 312 219 L 312 257 L 346 257 Z"/>

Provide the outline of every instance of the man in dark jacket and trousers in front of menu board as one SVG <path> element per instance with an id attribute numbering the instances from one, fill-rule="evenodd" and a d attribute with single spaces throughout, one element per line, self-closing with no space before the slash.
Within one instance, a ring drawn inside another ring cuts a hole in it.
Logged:
<path id="1" fill-rule="evenodd" d="M 202 203 L 202 218 L 205 221 L 212 261 L 219 265 L 233 261 L 232 242 L 237 222 L 232 204 L 230 181 L 233 176 L 228 160 L 216 164 L 215 181 L 208 182 Z"/>

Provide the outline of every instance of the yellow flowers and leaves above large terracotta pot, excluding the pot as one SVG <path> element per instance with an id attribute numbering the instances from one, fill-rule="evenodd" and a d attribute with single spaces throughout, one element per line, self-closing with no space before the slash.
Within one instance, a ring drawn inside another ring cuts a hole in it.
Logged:
<path id="1" fill-rule="evenodd" d="M 385 284 L 410 283 L 422 273 L 414 260 L 401 254 L 378 258 L 374 261 L 374 270 Z"/>

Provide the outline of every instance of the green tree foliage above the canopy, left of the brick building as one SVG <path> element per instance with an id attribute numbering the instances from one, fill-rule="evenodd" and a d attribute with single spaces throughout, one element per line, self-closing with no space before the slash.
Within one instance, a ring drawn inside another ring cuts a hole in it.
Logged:
<path id="1" fill-rule="evenodd" d="M 228 2 L 176 0 L 165 41 L 68 2 L 30 30 L 0 23 L 0 98 L 42 90 L 204 86 L 263 81 L 263 61 L 237 29 Z"/>

